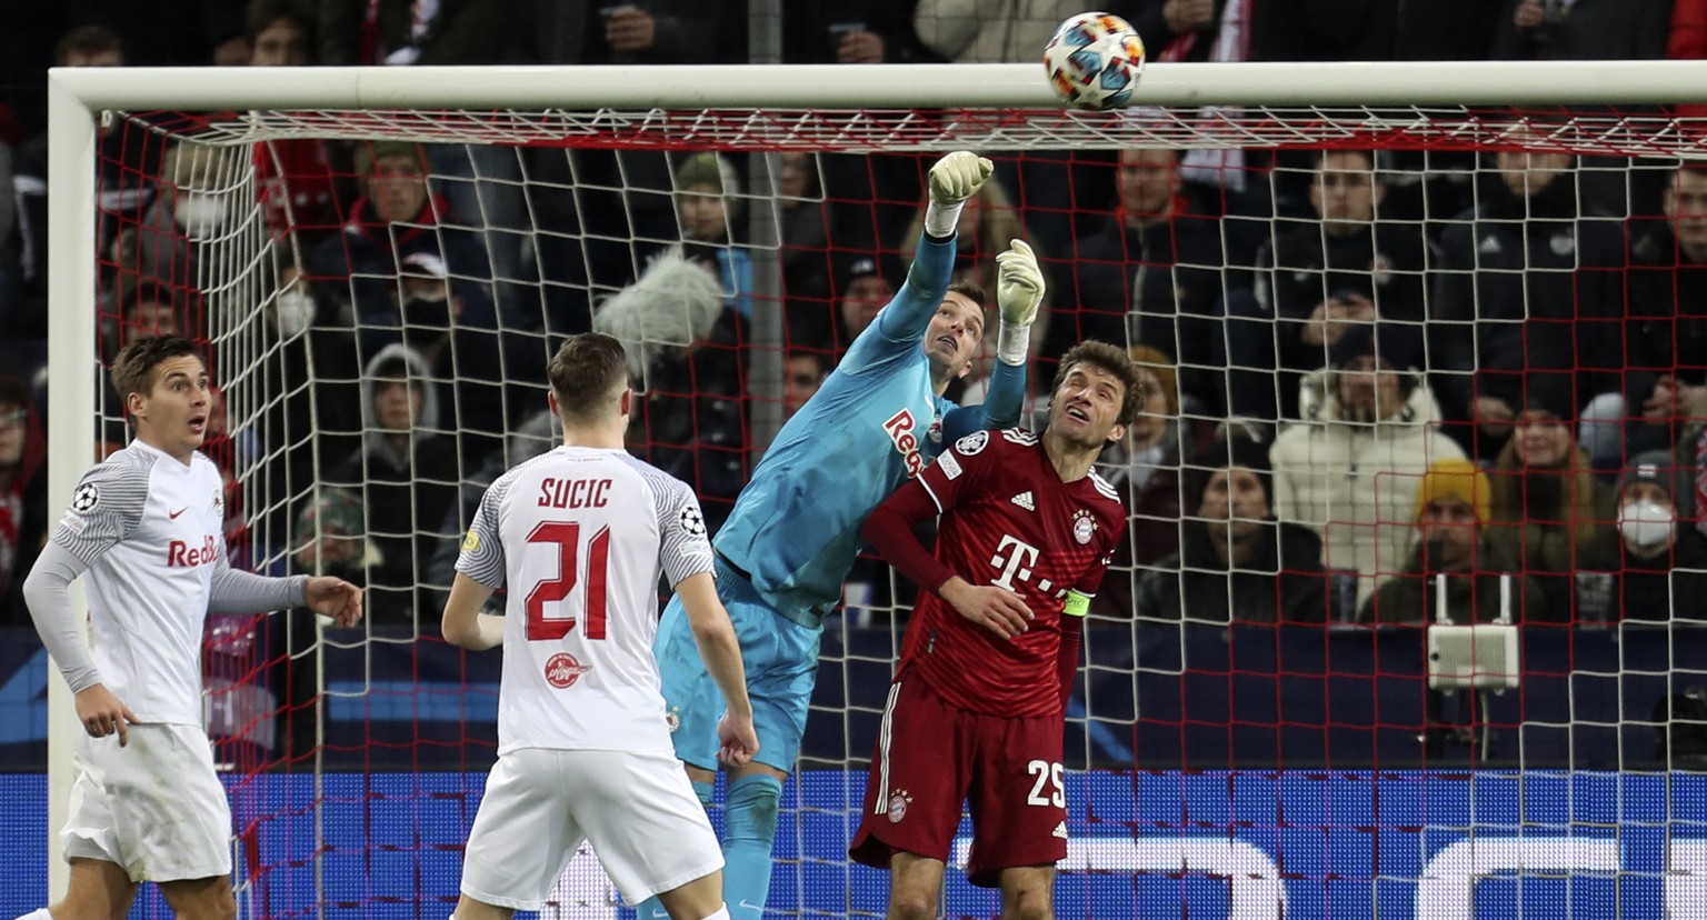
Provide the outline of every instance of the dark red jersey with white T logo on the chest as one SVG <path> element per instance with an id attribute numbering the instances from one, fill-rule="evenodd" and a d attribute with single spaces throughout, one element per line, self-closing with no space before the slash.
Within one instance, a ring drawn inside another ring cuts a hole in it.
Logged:
<path id="1" fill-rule="evenodd" d="M 1096 473 L 1063 483 L 1038 435 L 1021 428 L 966 435 L 915 481 L 941 514 L 937 560 L 971 584 L 1014 591 L 1036 618 L 1004 640 L 920 592 L 896 679 L 922 678 L 970 712 L 1060 713 L 1062 608 L 1069 591 L 1103 584 L 1127 526 L 1120 495 Z"/>

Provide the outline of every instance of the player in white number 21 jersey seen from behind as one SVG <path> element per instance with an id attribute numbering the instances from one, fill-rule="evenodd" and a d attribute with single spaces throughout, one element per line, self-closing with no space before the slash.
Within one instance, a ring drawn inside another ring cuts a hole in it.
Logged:
<path id="1" fill-rule="evenodd" d="M 720 756 L 758 751 L 734 626 L 686 483 L 623 449 L 633 406 L 623 346 L 586 333 L 548 369 L 563 445 L 486 490 L 444 608 L 446 640 L 504 645 L 498 763 L 468 835 L 454 920 L 539 910 L 591 840 L 628 903 L 727 920 L 724 857 L 676 763 L 652 638 L 666 579 L 727 703 Z M 504 614 L 480 609 L 509 587 Z"/>

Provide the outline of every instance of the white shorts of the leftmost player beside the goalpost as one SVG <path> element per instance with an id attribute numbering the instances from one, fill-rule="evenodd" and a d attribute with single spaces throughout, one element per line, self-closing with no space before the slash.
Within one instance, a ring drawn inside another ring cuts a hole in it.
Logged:
<path id="1" fill-rule="evenodd" d="M 77 737 L 65 859 L 118 864 L 133 882 L 230 876 L 230 804 L 196 725 L 130 725 Z"/>

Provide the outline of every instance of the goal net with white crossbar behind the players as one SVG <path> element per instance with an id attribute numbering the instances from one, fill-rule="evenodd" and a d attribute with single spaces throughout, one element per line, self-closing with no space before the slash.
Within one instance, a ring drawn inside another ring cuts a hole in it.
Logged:
<path id="1" fill-rule="evenodd" d="M 1661 108 L 1698 70 L 1594 67 L 1162 65 L 1121 113 L 1017 65 L 56 72 L 53 492 L 126 437 L 79 367 L 207 343 L 232 562 L 369 609 L 208 625 L 241 911 L 442 917 L 498 654 L 439 611 L 481 488 L 553 442 L 548 355 L 625 338 L 630 447 L 715 527 L 905 277 L 925 169 L 971 148 L 997 176 L 956 277 L 993 295 L 1011 237 L 1048 275 L 1034 423 L 1082 338 L 1152 393 L 1101 464 L 1132 517 L 1057 911 L 1704 915 L 1707 147 Z M 847 843 L 912 596 L 864 560 L 826 625 L 775 913 L 883 915 Z M 999 910 L 970 840 L 951 917 Z M 625 910 L 582 853 L 543 917 Z"/>

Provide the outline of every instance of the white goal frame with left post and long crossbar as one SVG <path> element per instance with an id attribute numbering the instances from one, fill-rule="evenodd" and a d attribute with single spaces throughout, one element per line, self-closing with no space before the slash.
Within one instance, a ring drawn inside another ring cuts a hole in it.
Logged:
<path id="1" fill-rule="evenodd" d="M 1707 102 L 1707 61 L 1164 63 L 1144 106 L 1555 106 Z M 1036 63 L 714 67 L 306 67 L 53 68 L 48 72 L 51 212 L 50 505 L 63 507 L 94 461 L 97 121 L 113 111 L 251 109 L 1052 109 Z M 1098 118 L 1098 116 L 1087 116 Z M 1045 143 L 1048 145 L 1048 143 Z M 1065 143 L 1058 143 L 1065 145 Z M 1707 157 L 1707 148 L 1704 148 Z M 82 594 L 73 594 L 82 606 Z M 48 891 L 80 731 L 68 688 L 48 676 Z"/>

